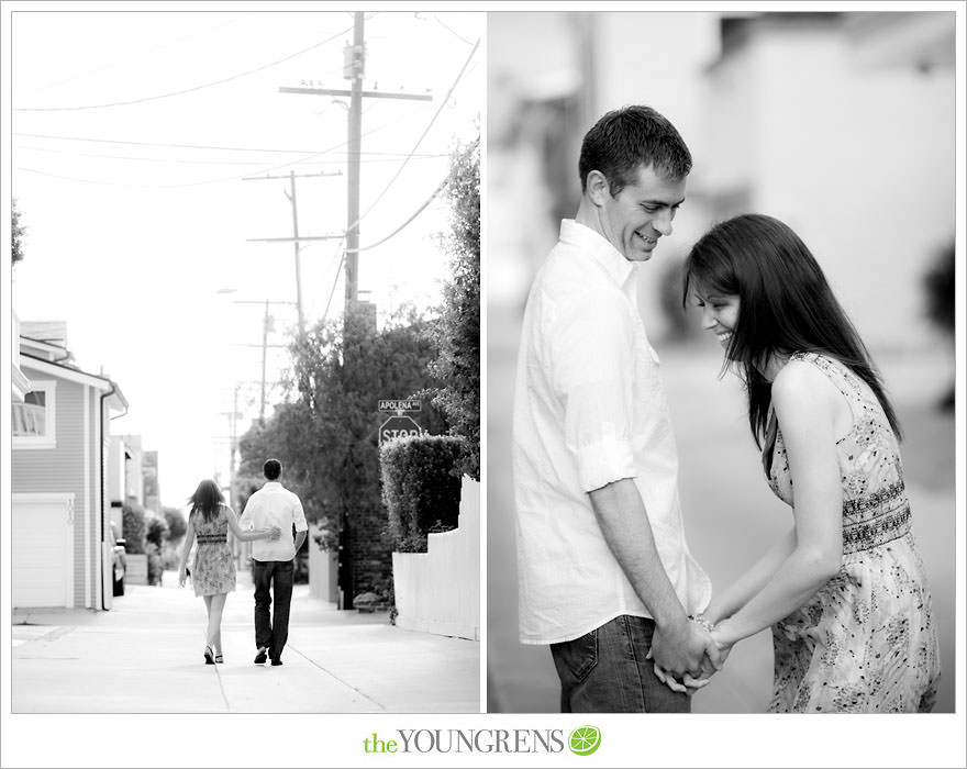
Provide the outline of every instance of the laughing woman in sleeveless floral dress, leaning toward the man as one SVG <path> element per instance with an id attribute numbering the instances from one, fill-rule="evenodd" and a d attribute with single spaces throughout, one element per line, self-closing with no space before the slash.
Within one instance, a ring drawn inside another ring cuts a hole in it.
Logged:
<path id="1" fill-rule="evenodd" d="M 900 425 L 822 270 L 782 222 L 746 214 L 692 247 L 685 296 L 746 386 L 765 475 L 793 519 L 699 617 L 721 660 L 771 626 L 770 712 L 930 711 L 940 651 Z"/>

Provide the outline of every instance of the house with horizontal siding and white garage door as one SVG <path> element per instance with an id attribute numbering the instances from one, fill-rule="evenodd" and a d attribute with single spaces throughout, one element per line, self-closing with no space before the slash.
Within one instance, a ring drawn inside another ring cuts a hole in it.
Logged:
<path id="1" fill-rule="evenodd" d="M 11 404 L 11 599 L 14 609 L 110 609 L 107 457 L 120 388 L 81 370 L 64 323 L 20 323 L 23 398 Z"/>

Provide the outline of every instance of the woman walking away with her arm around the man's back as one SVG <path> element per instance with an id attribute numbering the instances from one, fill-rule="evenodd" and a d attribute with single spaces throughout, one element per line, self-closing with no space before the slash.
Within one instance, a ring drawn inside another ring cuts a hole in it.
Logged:
<path id="1" fill-rule="evenodd" d="M 235 589 L 235 560 L 229 547 L 229 530 L 236 539 L 278 539 L 281 530 L 278 526 L 243 532 L 238 526 L 234 511 L 225 504 L 221 489 L 211 480 L 198 484 L 189 498 L 191 504 L 188 514 L 188 531 L 185 534 L 185 546 L 181 549 L 181 567 L 178 571 L 178 584 L 184 586 L 188 576 L 188 554 L 192 544 L 198 540 L 194 561 L 191 565 L 191 582 L 194 594 L 204 599 L 208 612 L 208 629 L 205 632 L 204 664 L 223 662 L 222 656 L 222 612 L 227 594 Z"/>

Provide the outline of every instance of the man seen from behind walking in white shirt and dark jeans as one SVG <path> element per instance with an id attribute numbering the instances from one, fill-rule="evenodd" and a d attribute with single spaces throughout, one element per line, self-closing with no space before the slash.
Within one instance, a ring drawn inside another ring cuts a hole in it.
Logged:
<path id="1" fill-rule="evenodd" d="M 289 637 L 289 606 L 292 602 L 296 554 L 305 542 L 309 524 L 299 498 L 280 482 L 282 465 L 268 459 L 263 466 L 266 482 L 248 498 L 240 524 L 243 528 L 278 526 L 282 536 L 252 543 L 252 581 L 255 582 L 255 664 L 282 664 L 282 649 Z M 296 539 L 292 540 L 292 526 Z M 275 609 L 269 609 L 275 599 Z"/>

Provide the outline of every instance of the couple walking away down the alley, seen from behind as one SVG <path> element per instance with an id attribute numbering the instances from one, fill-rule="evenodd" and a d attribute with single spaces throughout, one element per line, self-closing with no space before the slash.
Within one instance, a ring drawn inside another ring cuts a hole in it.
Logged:
<path id="1" fill-rule="evenodd" d="M 194 594 L 204 599 L 208 611 L 205 665 L 224 661 L 222 611 L 227 594 L 235 589 L 235 560 L 227 542 L 230 528 L 236 539 L 255 543 L 252 548 L 255 664 L 263 665 L 267 659 L 271 659 L 274 666 L 282 664 L 282 649 L 289 637 L 294 558 L 305 539 L 309 526 L 299 498 L 279 482 L 282 473 L 279 460 L 267 460 L 263 472 L 266 482 L 248 498 L 240 521 L 235 520 L 234 511 L 225 504 L 214 481 L 201 481 L 188 500 L 191 510 L 181 550 L 178 583 L 185 584 L 189 573 L 188 554 L 192 544 L 198 540 L 190 575 Z"/>

